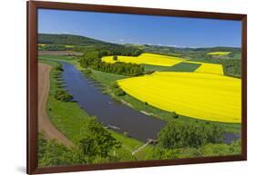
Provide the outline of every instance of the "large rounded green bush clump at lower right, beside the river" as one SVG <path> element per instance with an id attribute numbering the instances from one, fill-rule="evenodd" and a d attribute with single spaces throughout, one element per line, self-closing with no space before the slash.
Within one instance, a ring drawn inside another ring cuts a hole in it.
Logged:
<path id="1" fill-rule="evenodd" d="M 166 149 L 199 148 L 207 143 L 224 141 L 224 131 L 216 124 L 203 125 L 169 122 L 159 132 L 159 145 Z"/>

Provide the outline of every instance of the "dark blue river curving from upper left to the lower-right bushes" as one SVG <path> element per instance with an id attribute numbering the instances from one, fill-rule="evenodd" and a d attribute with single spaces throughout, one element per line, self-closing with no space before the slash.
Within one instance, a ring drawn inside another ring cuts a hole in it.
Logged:
<path id="1" fill-rule="evenodd" d="M 61 63 L 67 91 L 90 116 L 97 116 L 97 120 L 103 125 L 121 133 L 126 131 L 130 137 L 140 141 L 157 139 L 158 132 L 166 122 L 117 102 L 108 94 L 102 94 L 96 84 L 87 79 L 74 65 Z"/>

